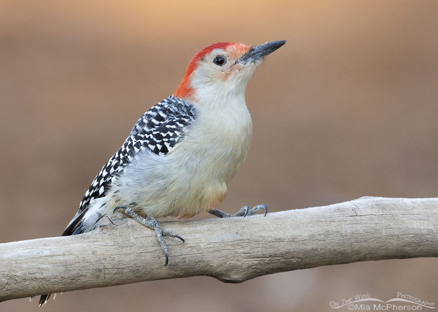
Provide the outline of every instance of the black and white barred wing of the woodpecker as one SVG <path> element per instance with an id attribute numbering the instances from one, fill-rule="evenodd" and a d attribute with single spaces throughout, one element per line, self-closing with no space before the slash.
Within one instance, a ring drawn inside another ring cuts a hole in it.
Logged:
<path id="1" fill-rule="evenodd" d="M 134 125 L 122 147 L 102 167 L 92 181 L 79 204 L 73 220 L 62 235 L 71 235 L 91 202 L 104 197 L 111 187 L 112 179 L 141 151 L 149 150 L 164 156 L 185 136 L 188 126 L 196 117 L 191 103 L 173 96 L 164 99 L 148 110 Z"/>

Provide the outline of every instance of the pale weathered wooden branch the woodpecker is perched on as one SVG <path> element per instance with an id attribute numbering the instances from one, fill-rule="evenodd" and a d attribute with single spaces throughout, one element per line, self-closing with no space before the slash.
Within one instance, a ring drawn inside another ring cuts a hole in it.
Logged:
<path id="1" fill-rule="evenodd" d="M 357 261 L 438 256 L 438 198 L 362 197 L 308 209 L 163 222 L 165 238 L 116 213 L 92 232 L 0 244 L 0 301 L 154 279 L 242 282 Z"/>

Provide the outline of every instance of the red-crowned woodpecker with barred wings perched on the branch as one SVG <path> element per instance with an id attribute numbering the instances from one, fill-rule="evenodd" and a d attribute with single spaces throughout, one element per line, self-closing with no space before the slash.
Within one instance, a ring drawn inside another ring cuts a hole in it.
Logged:
<path id="1" fill-rule="evenodd" d="M 163 229 L 157 218 L 201 212 L 233 217 L 261 210 L 266 215 L 266 205 L 234 214 L 215 207 L 250 147 L 246 85 L 264 58 L 285 43 L 217 42 L 197 52 L 173 95 L 140 117 L 102 167 L 61 236 L 94 230 L 102 217 L 121 212 L 155 230 L 167 265 L 163 236 L 184 239 Z M 42 295 L 39 306 L 49 297 Z"/>

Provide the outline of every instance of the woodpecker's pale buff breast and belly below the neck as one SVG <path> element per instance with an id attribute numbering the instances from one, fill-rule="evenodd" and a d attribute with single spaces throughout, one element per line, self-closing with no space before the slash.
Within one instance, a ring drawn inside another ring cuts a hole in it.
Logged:
<path id="1" fill-rule="evenodd" d="M 150 151 L 138 155 L 115 179 L 112 190 L 118 191 L 109 194 L 113 205 L 135 202 L 134 211 L 154 217 L 187 217 L 218 207 L 245 160 L 252 136 L 246 106 L 238 118 L 219 116 L 201 116 L 165 156 Z"/>

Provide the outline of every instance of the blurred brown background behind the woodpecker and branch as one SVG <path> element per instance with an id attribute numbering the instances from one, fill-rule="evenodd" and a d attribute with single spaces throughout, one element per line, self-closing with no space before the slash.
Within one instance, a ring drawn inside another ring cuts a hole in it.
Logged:
<path id="1" fill-rule="evenodd" d="M 0 242 L 59 235 L 135 121 L 217 41 L 288 41 L 248 84 L 253 143 L 223 210 L 437 197 L 437 16 L 433 0 L 1 0 Z M 357 293 L 397 292 L 438 304 L 437 264 L 352 263 L 242 284 L 160 280 L 65 293 L 43 309 L 329 311 Z"/>

